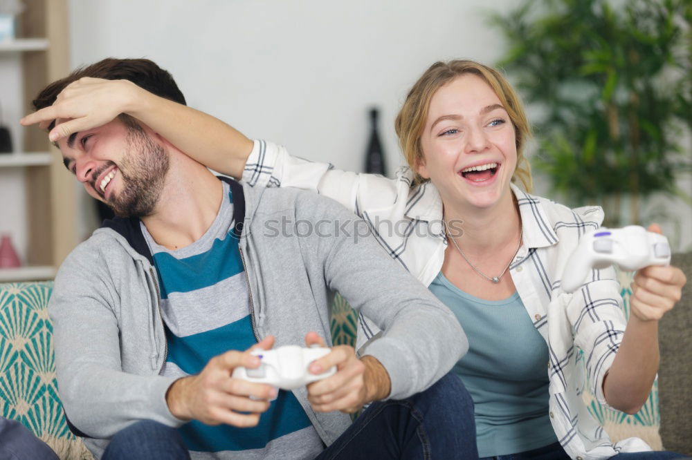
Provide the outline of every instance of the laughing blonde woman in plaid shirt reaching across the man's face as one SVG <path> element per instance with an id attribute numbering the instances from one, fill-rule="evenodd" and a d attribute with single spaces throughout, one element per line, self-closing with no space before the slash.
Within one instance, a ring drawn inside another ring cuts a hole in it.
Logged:
<path id="1" fill-rule="evenodd" d="M 251 185 L 313 189 L 369 222 L 390 256 L 464 326 L 471 349 L 455 371 L 475 402 L 481 457 L 675 457 L 619 453 L 648 446 L 638 439 L 610 443 L 581 401 L 581 369 L 601 403 L 637 412 L 657 371 L 657 320 L 680 299 L 684 274 L 675 267 L 640 270 L 627 324 L 612 269 L 592 271 L 574 294 L 561 289 L 567 258 L 585 232 L 600 226 L 603 211 L 570 210 L 527 193 L 522 147 L 529 128 L 497 71 L 473 61 L 426 70 L 397 117 L 409 166 L 393 180 L 304 162 L 124 82 L 78 82 L 23 122 L 71 119 L 53 128 L 57 140 L 119 113 L 149 124 L 215 171 Z M 366 318 L 360 323 L 362 344 L 376 329 Z M 577 365 L 577 350 L 585 366 Z"/>

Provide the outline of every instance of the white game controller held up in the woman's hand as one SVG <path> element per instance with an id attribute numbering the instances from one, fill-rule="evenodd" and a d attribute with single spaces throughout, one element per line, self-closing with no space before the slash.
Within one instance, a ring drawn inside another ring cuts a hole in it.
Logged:
<path id="1" fill-rule="evenodd" d="M 669 265 L 671 247 L 668 238 L 646 231 L 639 225 L 621 229 L 601 227 L 581 238 L 567 260 L 562 287 L 574 292 L 588 280 L 590 269 L 604 269 L 617 264 L 623 270 L 634 271 L 649 265 Z"/>

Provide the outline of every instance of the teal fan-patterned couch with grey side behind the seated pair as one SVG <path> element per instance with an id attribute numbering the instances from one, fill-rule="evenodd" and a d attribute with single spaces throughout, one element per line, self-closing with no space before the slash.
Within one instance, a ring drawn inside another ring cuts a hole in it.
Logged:
<path id="1" fill-rule="evenodd" d="M 644 408 L 626 415 L 601 407 L 590 394 L 583 398 L 613 439 L 638 436 L 654 448 L 692 456 L 692 253 L 674 256 L 673 264 L 691 282 L 683 300 L 661 321 L 659 378 Z M 627 312 L 631 274 L 619 276 Z M 67 428 L 60 404 L 46 308 L 52 289 L 50 281 L 0 284 L 0 415 L 24 423 L 61 459 L 91 459 Z M 335 344 L 354 342 L 356 316 L 338 295 L 331 332 Z"/>

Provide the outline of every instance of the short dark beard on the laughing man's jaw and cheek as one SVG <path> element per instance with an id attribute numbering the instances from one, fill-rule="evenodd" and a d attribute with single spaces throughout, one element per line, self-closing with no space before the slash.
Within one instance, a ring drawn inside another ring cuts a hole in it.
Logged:
<path id="1" fill-rule="evenodd" d="M 118 217 L 145 217 L 152 214 L 161 197 L 170 160 L 140 126 L 128 126 L 127 151 L 118 166 L 122 190 L 106 201 Z"/>

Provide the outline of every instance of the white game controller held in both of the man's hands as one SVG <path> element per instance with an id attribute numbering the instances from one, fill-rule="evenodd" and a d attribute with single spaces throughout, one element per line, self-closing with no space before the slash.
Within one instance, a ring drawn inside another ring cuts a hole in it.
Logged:
<path id="1" fill-rule="evenodd" d="M 236 367 L 233 378 L 255 383 L 267 383 L 282 390 L 295 390 L 308 383 L 322 380 L 336 373 L 336 366 L 330 367 L 322 374 L 312 374 L 308 367 L 316 359 L 331 352 L 324 347 L 303 348 L 298 345 L 284 345 L 277 349 L 255 349 L 252 354 L 259 356 L 262 363 L 257 369 Z"/>

